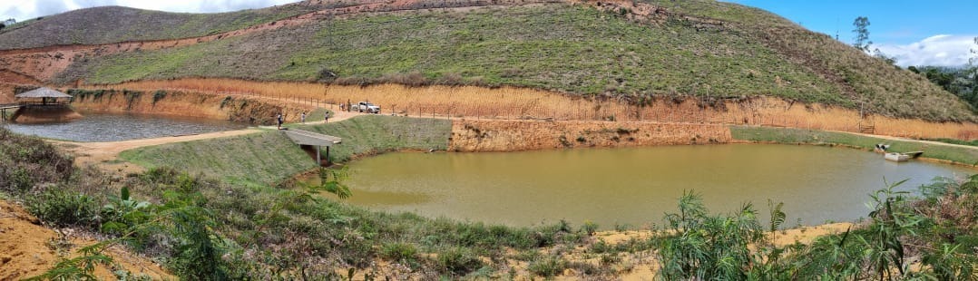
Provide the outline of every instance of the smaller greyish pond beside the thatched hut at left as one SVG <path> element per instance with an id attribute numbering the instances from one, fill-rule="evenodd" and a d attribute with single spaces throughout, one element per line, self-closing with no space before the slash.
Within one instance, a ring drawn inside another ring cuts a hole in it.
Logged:
<path id="1" fill-rule="evenodd" d="M 245 124 L 204 118 L 150 114 L 81 112 L 71 122 L 46 124 L 6 123 L 15 133 L 65 141 L 127 141 L 237 130 Z"/>

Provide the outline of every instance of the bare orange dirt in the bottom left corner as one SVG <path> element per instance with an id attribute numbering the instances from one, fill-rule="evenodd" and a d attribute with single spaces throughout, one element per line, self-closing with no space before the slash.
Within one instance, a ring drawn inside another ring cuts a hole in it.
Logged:
<path id="1" fill-rule="evenodd" d="M 64 232 L 69 232 L 67 229 Z M 95 243 L 92 239 L 76 235 L 62 235 L 54 229 L 40 225 L 21 206 L 0 200 L 0 280 L 18 280 L 36 276 L 50 269 L 59 260 L 60 249 L 76 257 L 81 246 Z M 117 246 L 106 251 L 122 268 L 133 275 L 146 274 L 154 280 L 176 279 L 165 270 L 142 257 L 134 256 Z M 106 265 L 96 268 L 96 276 L 102 280 L 115 280 Z"/>

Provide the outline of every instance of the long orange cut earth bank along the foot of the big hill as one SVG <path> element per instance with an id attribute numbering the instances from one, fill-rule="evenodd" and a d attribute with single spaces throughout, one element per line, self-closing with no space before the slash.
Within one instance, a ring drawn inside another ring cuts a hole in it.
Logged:
<path id="1" fill-rule="evenodd" d="M 857 110 L 824 104 L 805 104 L 776 98 L 707 102 L 658 99 L 636 105 L 624 100 L 580 98 L 552 92 L 502 87 L 472 86 L 369 87 L 335 86 L 301 82 L 257 82 L 235 79 L 177 79 L 129 82 L 99 86 L 142 91 L 182 90 L 254 95 L 273 99 L 338 104 L 347 100 L 370 100 L 384 113 L 414 116 L 488 119 L 604 120 L 664 123 L 715 123 L 792 127 L 814 130 L 859 132 L 873 127 L 872 134 L 909 138 L 974 140 L 974 123 L 933 123 L 919 119 L 896 119 L 879 115 L 861 118 Z"/>

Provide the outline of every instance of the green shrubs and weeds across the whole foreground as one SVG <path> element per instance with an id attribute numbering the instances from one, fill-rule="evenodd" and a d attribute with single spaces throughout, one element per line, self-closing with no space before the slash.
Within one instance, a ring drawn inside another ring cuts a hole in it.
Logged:
<path id="1" fill-rule="evenodd" d="M 0 129 L 0 139 L 0 156 L 12 159 L 0 163 L 0 172 L 29 167 L 23 181 L 33 182 L 0 182 L 0 198 L 25 200 L 45 223 L 109 237 L 41 278 L 89 277 L 93 264 L 111 262 L 101 253 L 114 244 L 155 257 L 193 280 L 340 279 L 342 269 L 379 278 L 384 271 L 378 271 L 378 259 L 402 264 L 410 271 L 398 272 L 418 279 L 513 277 L 506 273 L 513 265 L 509 259 L 527 261 L 534 275 L 572 268 L 580 276 L 613 278 L 607 268 L 630 266 L 619 264 L 624 253 L 655 255 L 663 280 L 978 277 L 978 176 L 934 181 L 921 186 L 918 197 L 894 191 L 902 182 L 890 184 L 870 194 L 865 225 L 786 246 L 771 242 L 777 231 L 766 232 L 780 228 L 782 220 L 764 227 L 750 204 L 735 214 L 710 215 L 689 192 L 680 198 L 678 213 L 666 215 L 668 231 L 611 245 L 588 242 L 595 225 L 507 227 L 376 213 L 314 195 L 319 190 L 228 184 L 168 168 L 110 181 L 98 171 L 37 165 L 70 163 L 37 138 Z M 332 179 L 341 184 L 341 178 Z M 35 196 L 44 200 L 28 199 Z M 784 217 L 780 204 L 769 207 L 772 218 Z M 600 267 L 561 257 L 561 249 L 582 246 Z"/>

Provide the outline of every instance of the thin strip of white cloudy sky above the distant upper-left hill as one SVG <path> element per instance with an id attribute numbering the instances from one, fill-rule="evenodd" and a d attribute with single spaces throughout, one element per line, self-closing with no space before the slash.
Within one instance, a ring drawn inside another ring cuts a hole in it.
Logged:
<path id="1" fill-rule="evenodd" d="M 220 13 L 282 5 L 298 0 L 27 0 L 0 1 L 0 20 L 30 20 L 70 10 L 125 6 L 178 13 Z"/>

